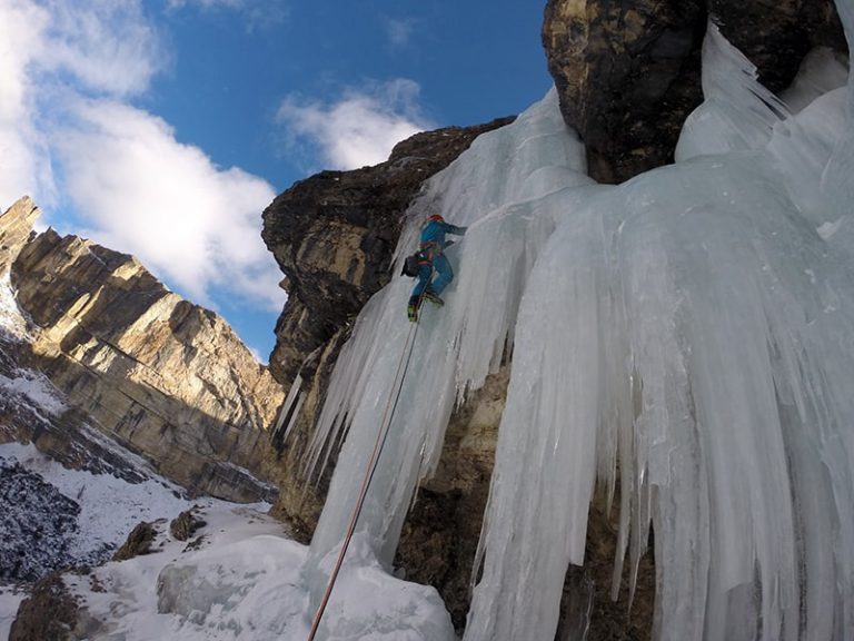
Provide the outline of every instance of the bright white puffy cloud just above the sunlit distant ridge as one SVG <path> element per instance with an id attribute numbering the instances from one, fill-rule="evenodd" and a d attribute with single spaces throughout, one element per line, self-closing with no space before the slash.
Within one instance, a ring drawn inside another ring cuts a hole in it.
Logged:
<path id="1" fill-rule="evenodd" d="M 81 126 L 58 151 L 93 239 L 138 256 L 195 302 L 210 305 L 216 287 L 281 307 L 280 274 L 260 238 L 270 185 L 216 167 L 146 111 L 100 101 L 77 114 Z"/>

